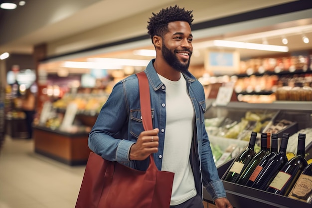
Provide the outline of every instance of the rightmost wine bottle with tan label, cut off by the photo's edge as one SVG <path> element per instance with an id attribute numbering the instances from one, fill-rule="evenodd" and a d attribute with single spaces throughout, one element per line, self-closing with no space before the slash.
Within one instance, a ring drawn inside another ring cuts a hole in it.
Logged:
<path id="1" fill-rule="evenodd" d="M 300 175 L 288 197 L 303 202 L 312 202 L 312 163 Z"/>

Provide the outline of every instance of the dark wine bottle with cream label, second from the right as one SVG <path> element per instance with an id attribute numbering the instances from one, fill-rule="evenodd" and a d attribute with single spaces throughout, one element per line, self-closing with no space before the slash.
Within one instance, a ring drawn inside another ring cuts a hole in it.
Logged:
<path id="1" fill-rule="evenodd" d="M 267 192 L 288 196 L 301 173 L 308 166 L 305 159 L 306 134 L 298 135 L 297 155 L 290 159 L 269 185 Z"/>

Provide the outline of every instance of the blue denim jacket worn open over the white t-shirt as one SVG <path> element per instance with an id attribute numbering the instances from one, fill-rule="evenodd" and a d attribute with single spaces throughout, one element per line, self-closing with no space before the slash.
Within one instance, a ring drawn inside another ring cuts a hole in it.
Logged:
<path id="1" fill-rule="evenodd" d="M 153 126 L 159 129 L 159 146 L 158 152 L 154 154 L 154 160 L 158 170 L 160 170 L 166 130 L 166 87 L 160 81 L 153 62 L 154 59 L 146 67 L 145 73 L 150 83 Z M 224 198 L 226 195 L 223 183 L 219 179 L 213 161 L 204 125 L 206 103 L 203 87 L 189 72 L 183 73 L 183 76 L 187 82 L 196 117 L 190 162 L 197 194 L 202 196 L 204 186 L 213 200 Z M 137 141 L 142 131 L 144 128 L 141 120 L 138 79 L 136 75 L 130 75 L 114 86 L 89 134 L 88 145 L 93 152 L 106 160 L 117 161 L 137 170 L 146 170 L 149 165 L 149 158 L 144 161 L 129 160 L 130 147 Z"/>

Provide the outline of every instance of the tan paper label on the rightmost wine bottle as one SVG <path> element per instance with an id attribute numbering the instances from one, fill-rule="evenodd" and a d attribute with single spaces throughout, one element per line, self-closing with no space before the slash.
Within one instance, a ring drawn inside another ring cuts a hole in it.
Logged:
<path id="1" fill-rule="evenodd" d="M 307 202 L 312 196 L 312 176 L 302 174 L 288 197 Z"/>

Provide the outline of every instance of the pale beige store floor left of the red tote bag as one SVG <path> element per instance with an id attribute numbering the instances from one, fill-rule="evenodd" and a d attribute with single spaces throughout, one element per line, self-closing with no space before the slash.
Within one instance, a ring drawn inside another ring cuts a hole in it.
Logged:
<path id="1" fill-rule="evenodd" d="M 34 153 L 33 140 L 6 137 L 0 152 L 0 208 L 74 208 L 84 170 Z"/>

